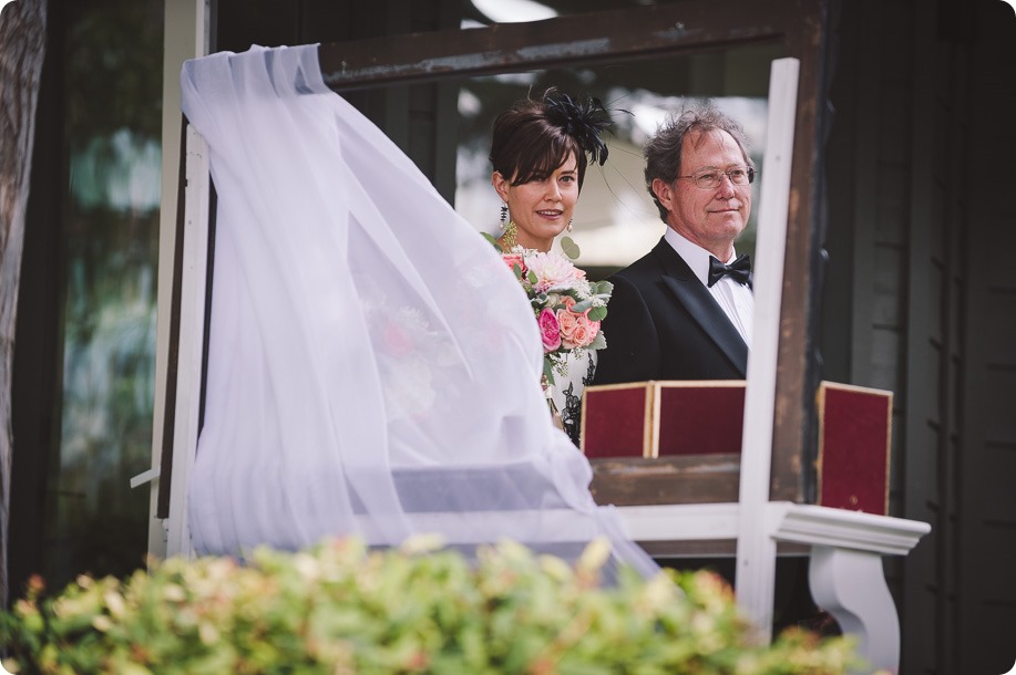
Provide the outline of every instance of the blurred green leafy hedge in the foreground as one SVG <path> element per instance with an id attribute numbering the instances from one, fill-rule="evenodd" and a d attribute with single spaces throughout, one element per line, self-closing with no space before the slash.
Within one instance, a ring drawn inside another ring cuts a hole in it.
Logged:
<path id="1" fill-rule="evenodd" d="M 298 553 L 171 559 L 125 580 L 33 580 L 0 615 L 11 673 L 59 675 L 835 674 L 848 638 L 788 631 L 759 645 L 709 572 L 602 584 L 608 544 L 568 565 L 510 542 L 469 560 L 324 542 Z"/>

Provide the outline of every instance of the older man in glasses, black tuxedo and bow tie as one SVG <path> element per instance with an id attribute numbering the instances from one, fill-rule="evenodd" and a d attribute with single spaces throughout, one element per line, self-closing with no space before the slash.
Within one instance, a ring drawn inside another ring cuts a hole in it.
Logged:
<path id="1" fill-rule="evenodd" d="M 743 380 L 755 308 L 750 261 L 733 248 L 755 179 L 745 133 L 714 107 L 687 111 L 645 155 L 646 186 L 668 227 L 610 278 L 594 383 Z"/>

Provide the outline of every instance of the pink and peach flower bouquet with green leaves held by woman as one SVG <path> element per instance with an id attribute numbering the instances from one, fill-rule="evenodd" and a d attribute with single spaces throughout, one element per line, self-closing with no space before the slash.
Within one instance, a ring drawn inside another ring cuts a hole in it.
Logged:
<path id="1" fill-rule="evenodd" d="M 599 323 L 607 315 L 614 285 L 589 281 L 586 273 L 557 251 L 541 252 L 521 246 L 501 257 L 522 284 L 543 339 L 546 384 L 567 372 L 567 354 L 607 346 Z"/>

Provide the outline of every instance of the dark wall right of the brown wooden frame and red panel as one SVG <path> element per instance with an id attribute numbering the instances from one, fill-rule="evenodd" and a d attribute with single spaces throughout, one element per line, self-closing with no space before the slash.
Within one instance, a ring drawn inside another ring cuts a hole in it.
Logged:
<path id="1" fill-rule="evenodd" d="M 1016 14 L 845 0 L 828 145 L 824 376 L 892 390 L 891 510 L 933 531 L 886 562 L 903 673 L 1012 668 L 1016 595 Z"/>

